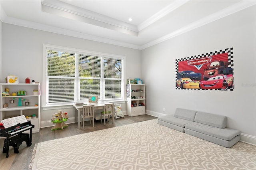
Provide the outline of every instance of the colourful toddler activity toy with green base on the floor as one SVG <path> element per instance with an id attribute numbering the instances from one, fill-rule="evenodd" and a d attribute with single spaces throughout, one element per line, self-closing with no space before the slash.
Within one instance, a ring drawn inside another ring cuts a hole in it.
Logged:
<path id="1" fill-rule="evenodd" d="M 58 130 L 58 129 L 63 130 L 63 128 L 68 127 L 68 125 L 64 123 L 67 120 L 68 120 L 68 113 L 62 112 L 59 110 L 58 113 L 55 113 L 52 115 L 52 123 L 56 123 L 56 125 L 52 127 L 51 130 Z"/>

